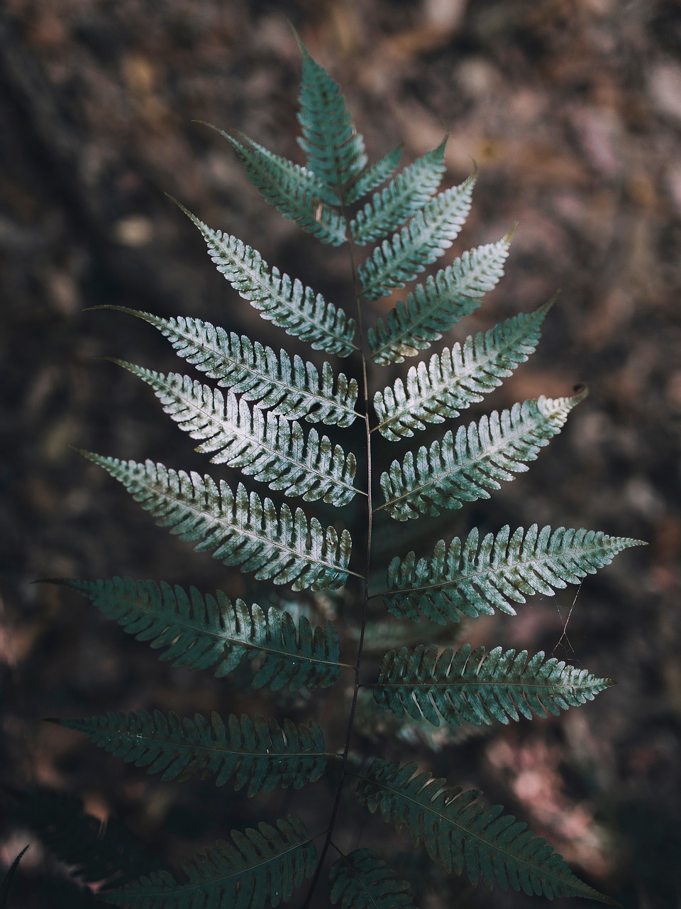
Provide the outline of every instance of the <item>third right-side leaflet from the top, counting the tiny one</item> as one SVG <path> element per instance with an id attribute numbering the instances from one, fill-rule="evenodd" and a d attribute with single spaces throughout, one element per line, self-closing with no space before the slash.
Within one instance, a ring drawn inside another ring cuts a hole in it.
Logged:
<path id="1" fill-rule="evenodd" d="M 404 287 L 435 262 L 459 235 L 470 211 L 476 176 L 439 193 L 419 209 L 399 234 L 384 240 L 357 270 L 362 294 L 377 300 L 393 287 Z"/>

